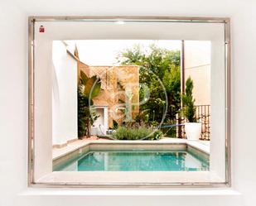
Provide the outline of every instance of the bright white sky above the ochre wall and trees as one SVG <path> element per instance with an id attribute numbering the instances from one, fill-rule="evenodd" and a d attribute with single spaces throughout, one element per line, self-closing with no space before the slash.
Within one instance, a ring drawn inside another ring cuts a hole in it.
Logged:
<path id="1" fill-rule="evenodd" d="M 181 50 L 181 41 L 172 40 L 79 40 L 65 41 L 69 46 L 75 44 L 80 60 L 87 65 L 116 65 L 116 57 L 122 50 L 140 45 L 145 50 L 152 44 L 167 50 Z"/>

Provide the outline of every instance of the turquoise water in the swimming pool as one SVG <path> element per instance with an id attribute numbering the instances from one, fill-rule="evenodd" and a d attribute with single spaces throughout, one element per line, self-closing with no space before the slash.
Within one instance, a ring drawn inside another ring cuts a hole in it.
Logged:
<path id="1" fill-rule="evenodd" d="M 209 170 L 209 158 L 188 151 L 89 151 L 56 165 L 55 171 Z"/>

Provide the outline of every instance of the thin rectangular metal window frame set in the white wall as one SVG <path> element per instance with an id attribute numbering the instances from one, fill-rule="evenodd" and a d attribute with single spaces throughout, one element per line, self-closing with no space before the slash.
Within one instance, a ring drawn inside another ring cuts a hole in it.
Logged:
<path id="1" fill-rule="evenodd" d="M 34 41 L 35 22 L 196 22 L 196 23 L 223 23 L 225 25 L 225 182 L 205 183 L 118 183 L 118 184 L 57 184 L 36 183 L 34 181 L 33 163 L 35 160 L 34 137 Z M 215 188 L 231 186 L 231 144 L 230 144 L 230 19 L 228 17 L 129 17 L 129 16 L 43 16 L 28 17 L 28 160 L 27 184 L 29 187 L 70 187 L 70 188 L 141 188 L 141 187 L 185 187 L 185 188 Z"/>

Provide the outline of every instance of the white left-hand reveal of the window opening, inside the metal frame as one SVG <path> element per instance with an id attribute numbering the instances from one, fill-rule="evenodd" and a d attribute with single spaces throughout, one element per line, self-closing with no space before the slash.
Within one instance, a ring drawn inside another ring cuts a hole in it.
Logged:
<path id="1" fill-rule="evenodd" d="M 40 46 L 40 49 L 39 47 Z M 52 171 L 52 48 L 51 42 L 38 38 L 35 46 L 35 180 Z"/>

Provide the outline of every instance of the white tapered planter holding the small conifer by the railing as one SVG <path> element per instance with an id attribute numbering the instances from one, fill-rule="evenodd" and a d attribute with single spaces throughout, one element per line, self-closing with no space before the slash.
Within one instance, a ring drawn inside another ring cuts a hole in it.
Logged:
<path id="1" fill-rule="evenodd" d="M 201 131 L 202 131 L 201 122 L 185 123 L 186 138 L 188 140 L 199 140 Z"/>

